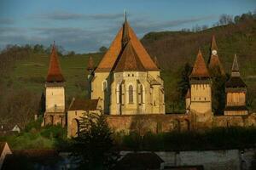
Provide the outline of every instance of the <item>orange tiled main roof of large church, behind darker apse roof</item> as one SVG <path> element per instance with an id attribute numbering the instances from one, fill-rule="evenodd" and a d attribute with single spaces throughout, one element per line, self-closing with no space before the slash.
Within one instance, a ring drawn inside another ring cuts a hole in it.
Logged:
<path id="1" fill-rule="evenodd" d="M 122 28 L 119 29 L 117 36 L 108 48 L 107 53 L 103 56 L 100 64 L 97 66 L 96 71 L 113 71 L 113 67 L 118 65 L 118 62 L 121 61 L 119 57 L 125 50 L 128 42 L 130 42 L 130 49 L 126 49 L 126 55 L 137 55 L 137 58 L 132 57 L 132 59 L 138 59 L 141 64 L 137 65 L 143 65 L 147 71 L 159 71 L 158 67 L 154 64 L 153 59 L 151 59 L 146 49 L 143 48 L 143 44 L 138 40 L 135 32 L 132 30 L 126 19 Z M 132 63 L 137 63 L 138 60 Z M 132 67 L 137 66 L 132 65 Z"/>

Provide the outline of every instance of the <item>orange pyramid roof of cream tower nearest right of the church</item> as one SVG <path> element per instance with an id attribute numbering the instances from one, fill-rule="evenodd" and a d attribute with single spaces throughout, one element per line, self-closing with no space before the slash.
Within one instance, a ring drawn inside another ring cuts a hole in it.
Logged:
<path id="1" fill-rule="evenodd" d="M 192 73 L 190 74 L 189 77 L 210 77 L 209 72 L 207 70 L 207 65 L 205 63 L 205 59 L 201 54 L 201 50 L 198 51 Z"/>

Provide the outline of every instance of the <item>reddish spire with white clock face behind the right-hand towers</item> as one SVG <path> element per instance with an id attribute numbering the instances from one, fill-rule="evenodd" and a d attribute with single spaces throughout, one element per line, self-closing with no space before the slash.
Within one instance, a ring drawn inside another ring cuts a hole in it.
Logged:
<path id="1" fill-rule="evenodd" d="M 218 58 L 218 47 L 214 35 L 212 36 L 211 55 L 208 60 L 208 69 L 213 76 L 216 74 L 224 76 L 225 74 L 224 67 Z"/>

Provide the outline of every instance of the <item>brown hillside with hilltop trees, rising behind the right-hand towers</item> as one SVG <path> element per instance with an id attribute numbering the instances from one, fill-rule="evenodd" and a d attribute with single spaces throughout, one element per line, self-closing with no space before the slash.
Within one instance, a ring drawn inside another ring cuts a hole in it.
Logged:
<path id="1" fill-rule="evenodd" d="M 234 54 L 238 55 L 241 77 L 248 86 L 248 105 L 255 111 L 256 96 L 256 17 L 255 14 L 236 16 L 236 23 L 216 26 L 204 31 L 165 31 L 150 32 L 142 39 L 144 47 L 151 56 L 156 56 L 165 80 L 166 110 L 172 108 L 179 100 L 177 82 L 186 63 L 193 65 L 198 49 L 208 61 L 212 35 L 218 43 L 218 57 L 230 74 Z M 171 106 L 171 107 L 170 107 Z"/>

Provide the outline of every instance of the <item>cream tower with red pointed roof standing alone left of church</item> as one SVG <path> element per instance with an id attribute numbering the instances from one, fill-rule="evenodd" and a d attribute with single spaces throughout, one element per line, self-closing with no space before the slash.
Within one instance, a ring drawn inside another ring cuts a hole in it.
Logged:
<path id="1" fill-rule="evenodd" d="M 54 43 L 49 59 L 48 75 L 44 82 L 46 108 L 43 125 L 65 126 L 66 124 L 64 82 Z"/>

